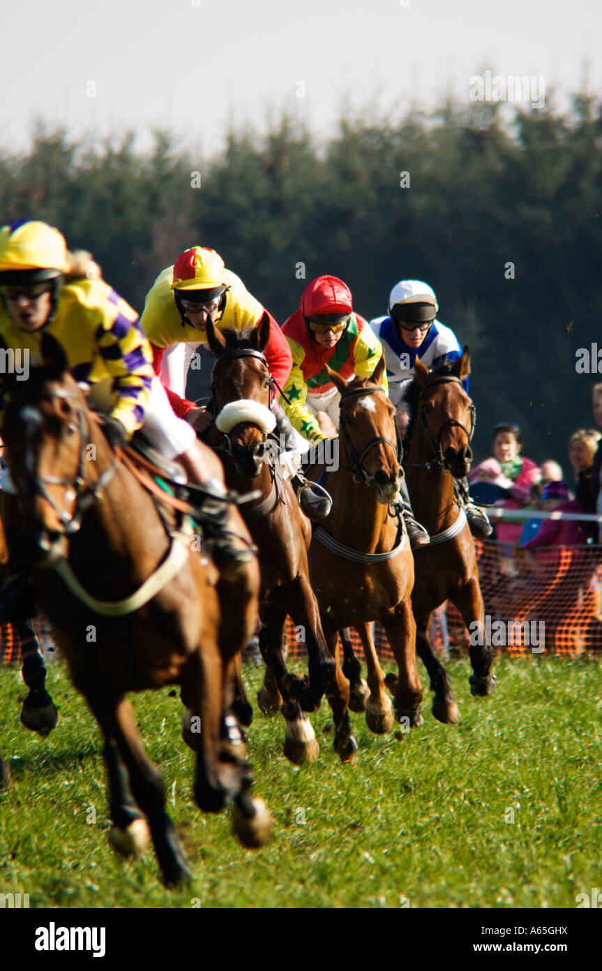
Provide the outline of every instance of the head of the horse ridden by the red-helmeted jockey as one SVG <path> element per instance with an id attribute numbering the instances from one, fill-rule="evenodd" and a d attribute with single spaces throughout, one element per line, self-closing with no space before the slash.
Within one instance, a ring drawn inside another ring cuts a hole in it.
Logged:
<path id="1" fill-rule="evenodd" d="M 395 408 L 381 385 L 385 359 L 381 357 L 369 378 L 349 384 L 327 365 L 333 385 L 340 391 L 339 436 L 354 475 L 374 486 L 379 502 L 391 505 L 399 491 Z"/>

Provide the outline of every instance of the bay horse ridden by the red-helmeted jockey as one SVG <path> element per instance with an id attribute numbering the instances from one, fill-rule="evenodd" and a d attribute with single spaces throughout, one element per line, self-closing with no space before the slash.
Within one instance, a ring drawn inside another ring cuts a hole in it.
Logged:
<path id="1" fill-rule="evenodd" d="M 395 409 L 381 385 L 381 357 L 369 378 L 347 384 L 328 368 L 340 398 L 339 463 L 326 468 L 324 485 L 333 509 L 319 527 L 309 550 L 315 590 L 327 643 L 336 670 L 328 699 L 333 709 L 334 749 L 343 760 L 357 751 L 351 733 L 349 681 L 339 664 L 337 631 L 355 626 L 364 646 L 370 690 L 365 720 L 375 732 L 393 724 L 391 701 L 372 640 L 370 622 L 379 620 L 396 657 L 394 704 L 399 720 L 422 723 L 423 689 L 416 671 L 416 624 L 412 614 L 414 560 L 403 520 L 396 513 L 400 469 L 397 461 Z"/>

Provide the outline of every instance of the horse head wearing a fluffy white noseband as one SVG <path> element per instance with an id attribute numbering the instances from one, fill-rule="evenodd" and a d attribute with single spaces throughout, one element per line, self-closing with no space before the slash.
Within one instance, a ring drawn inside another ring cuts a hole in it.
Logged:
<path id="1" fill-rule="evenodd" d="M 216 357 L 211 389 L 222 448 L 231 455 L 238 475 L 255 479 L 268 454 L 266 437 L 275 425 L 269 409 L 273 383 L 264 356 L 269 318 L 240 331 L 220 331 L 207 320 L 206 335 Z"/>

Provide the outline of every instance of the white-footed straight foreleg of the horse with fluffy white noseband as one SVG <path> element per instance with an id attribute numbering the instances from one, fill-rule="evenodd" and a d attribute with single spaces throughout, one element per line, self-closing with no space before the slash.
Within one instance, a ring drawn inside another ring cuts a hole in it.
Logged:
<path id="1" fill-rule="evenodd" d="M 311 721 L 301 711 L 299 699 L 303 682 L 300 678 L 294 678 L 284 663 L 282 642 L 286 611 L 271 603 L 262 611 L 262 614 L 259 647 L 266 664 L 275 676 L 282 696 L 282 714 L 286 720 L 282 751 L 295 765 L 301 765 L 301 762 L 313 762 L 318 757 L 320 746 Z"/>

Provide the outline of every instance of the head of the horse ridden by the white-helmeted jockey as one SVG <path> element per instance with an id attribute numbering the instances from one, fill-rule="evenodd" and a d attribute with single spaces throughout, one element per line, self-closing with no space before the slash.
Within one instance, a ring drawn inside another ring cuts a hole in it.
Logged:
<path id="1" fill-rule="evenodd" d="M 470 352 L 465 347 L 451 367 L 433 373 L 417 358 L 414 370 L 419 388 L 418 414 L 435 464 L 463 479 L 472 460 L 470 441 L 475 423 L 474 404 L 461 384 L 470 373 Z"/>

